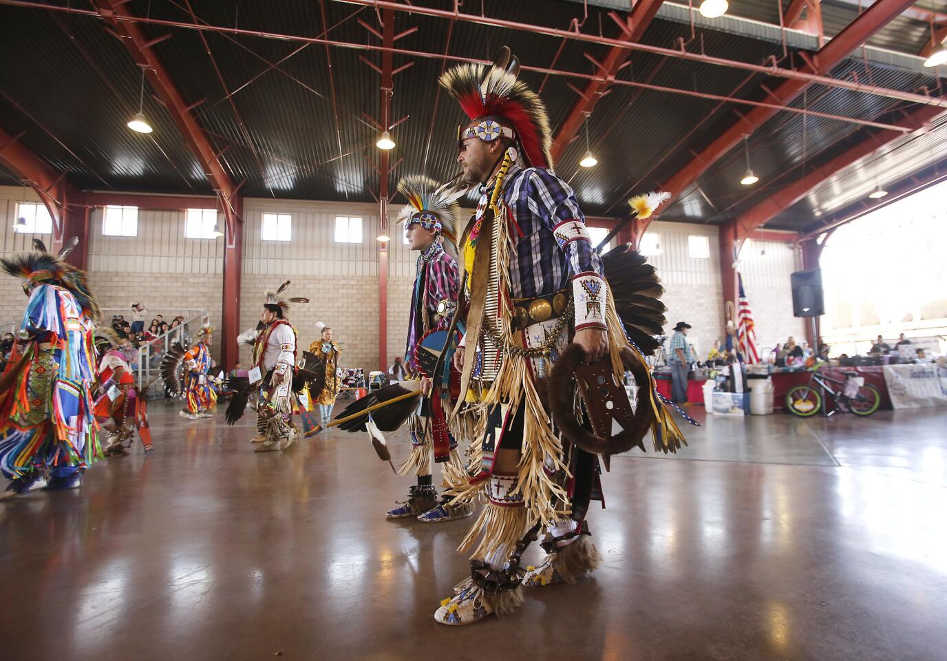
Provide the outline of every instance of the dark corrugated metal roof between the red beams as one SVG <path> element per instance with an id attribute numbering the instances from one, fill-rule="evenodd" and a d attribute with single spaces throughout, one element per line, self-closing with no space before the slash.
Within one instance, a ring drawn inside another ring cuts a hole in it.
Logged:
<path id="1" fill-rule="evenodd" d="M 67 0 L 57 1 L 67 4 Z M 378 43 L 358 22 L 362 19 L 378 27 L 376 12 L 371 8 L 328 0 L 324 4 L 244 0 L 239 5 L 191 0 L 191 4 L 199 22 L 212 25 L 299 35 L 319 35 L 329 27 L 333 40 Z M 443 6 L 438 0 L 417 4 Z M 766 21 L 772 20 L 774 6 L 762 0 L 734 0 L 731 10 L 736 15 Z M 185 0 L 151 5 L 148 0 L 133 0 L 126 7 L 135 15 L 145 15 L 150 7 L 152 17 L 191 20 Z M 569 27 L 573 19 L 581 20 L 584 10 L 581 3 L 564 0 L 548 0 L 542 8 L 537 11 L 536 3 L 502 0 L 484 0 L 482 4 L 487 15 L 559 28 Z M 854 15 L 847 5 L 832 6 L 831 11 L 835 9 Z M 479 11 L 480 6 L 466 10 Z M 590 3 L 588 11 L 583 31 L 616 33 L 606 9 Z M 486 59 L 499 45 L 509 43 L 524 64 L 580 73 L 593 72 L 593 65 L 583 53 L 600 61 L 608 51 L 606 45 L 563 42 L 501 27 L 467 22 L 452 25 L 444 19 L 397 13 L 396 32 L 408 27 L 418 29 L 398 42 L 406 49 L 440 53 L 447 47 L 452 56 Z M 324 45 L 172 27 L 142 29 L 152 39 L 172 35 L 155 45 L 154 52 L 188 103 L 206 99 L 195 108 L 194 116 L 214 149 L 226 149 L 221 157 L 224 169 L 235 183 L 246 181 L 241 188 L 243 194 L 373 200 L 379 188 L 379 151 L 374 146 L 377 131 L 366 116 L 380 114 L 380 76 L 360 58 L 377 64 L 381 62 L 380 53 L 331 47 L 327 55 Z M 205 52 L 202 34 L 223 83 Z M 643 41 L 672 47 L 679 38 L 689 42 L 688 50 L 692 52 L 703 49 L 707 54 L 749 63 L 763 63 L 783 53 L 781 43 L 761 36 L 700 26 L 691 40 L 687 23 L 660 18 L 652 22 Z M 209 192 L 200 164 L 147 87 L 144 110 L 155 126 L 154 133 L 143 136 L 125 127 L 137 110 L 138 68 L 101 21 L 0 7 L 0 62 L 0 92 L 22 106 L 18 110 L 0 98 L 0 126 L 12 134 L 26 131 L 23 141 L 27 147 L 52 167 L 69 172 L 78 186 Z M 394 56 L 394 62 L 396 67 L 413 64 L 395 77 L 391 120 L 406 120 L 392 132 L 398 146 L 391 161 L 400 165 L 392 173 L 391 187 L 407 173 L 424 171 L 436 178 L 450 177 L 457 171 L 453 137 L 462 117 L 456 103 L 438 92 L 436 80 L 444 63 L 428 58 L 411 60 L 401 54 Z M 738 69 L 641 52 L 634 52 L 631 62 L 618 74 L 620 80 L 738 98 L 762 99 L 760 83 L 779 82 Z M 841 64 L 832 75 L 845 78 L 852 73 L 859 80 L 901 90 L 913 91 L 932 81 L 893 67 L 869 64 L 866 70 L 860 59 Z M 534 89 L 542 86 L 554 127 L 563 122 L 577 98 L 568 82 L 579 88 L 585 83 L 534 72 L 525 72 L 522 77 Z M 611 89 L 589 121 L 590 143 L 598 154 L 599 167 L 584 170 L 578 166 L 585 150 L 582 135 L 556 166 L 576 188 L 589 215 L 624 215 L 623 198 L 627 193 L 667 181 L 692 158 L 691 150 L 699 151 L 724 132 L 736 120 L 735 111 L 741 109 L 733 103 L 623 85 Z M 232 94 L 230 99 L 226 98 L 228 93 Z M 868 118 L 881 116 L 893 107 L 889 99 L 820 86 L 812 86 L 793 105 Z M 663 218 L 722 222 L 759 202 L 774 187 L 793 181 L 813 164 L 844 149 L 858 137 L 858 130 L 858 126 L 846 122 L 780 113 L 749 141 L 753 168 L 762 179 L 758 188 L 747 191 L 737 183 L 745 163 L 742 149 L 736 149 L 707 170 Z M 777 223 L 802 223 L 805 214 L 794 214 L 795 207 Z"/>

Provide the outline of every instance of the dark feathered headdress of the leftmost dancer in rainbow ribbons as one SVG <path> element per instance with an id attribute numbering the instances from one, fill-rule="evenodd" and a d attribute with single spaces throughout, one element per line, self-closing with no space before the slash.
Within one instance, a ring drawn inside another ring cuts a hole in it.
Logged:
<path id="1" fill-rule="evenodd" d="M 85 272 L 65 263 L 69 255 L 79 245 L 79 239 L 73 237 L 66 241 L 59 255 L 53 255 L 43 241 L 33 240 L 36 252 L 20 255 L 12 259 L 0 259 L 0 266 L 13 277 L 24 278 L 23 290 L 29 295 L 30 288 L 39 284 L 52 284 L 62 287 L 76 298 L 82 312 L 92 320 L 98 320 L 101 311 L 96 296 L 89 289 Z"/>

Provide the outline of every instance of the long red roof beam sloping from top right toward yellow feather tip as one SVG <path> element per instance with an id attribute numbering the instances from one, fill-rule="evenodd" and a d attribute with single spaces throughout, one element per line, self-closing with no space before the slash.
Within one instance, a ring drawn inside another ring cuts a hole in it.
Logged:
<path id="1" fill-rule="evenodd" d="M 835 35 L 827 45 L 816 51 L 812 57 L 807 58 L 809 63 L 802 66 L 799 71 L 815 75 L 830 73 L 832 67 L 845 60 L 851 51 L 865 44 L 872 35 L 897 18 L 905 8 L 912 4 L 912 0 L 878 0 L 848 27 Z M 804 80 L 786 80 L 773 90 L 769 97 L 785 105 L 798 97 L 808 86 L 809 83 Z M 739 145 L 744 135 L 752 134 L 778 112 L 777 108 L 756 107 L 741 116 L 740 121 L 733 124 L 701 152 L 695 154 L 688 165 L 678 170 L 661 186 L 661 189 L 669 191 L 671 196 L 670 200 L 662 206 L 668 208 L 674 199 L 697 181 L 710 166 Z M 652 216 L 648 222 L 655 216 Z M 648 222 L 642 223 L 641 232 L 647 229 Z"/>

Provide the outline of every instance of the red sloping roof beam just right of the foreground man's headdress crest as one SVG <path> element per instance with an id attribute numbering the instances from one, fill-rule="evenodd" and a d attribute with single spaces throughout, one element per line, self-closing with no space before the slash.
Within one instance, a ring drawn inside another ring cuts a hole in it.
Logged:
<path id="1" fill-rule="evenodd" d="M 616 23 L 619 23 L 622 30 L 621 38 L 629 43 L 639 41 L 644 36 L 645 30 L 651 25 L 654 14 L 657 13 L 662 2 L 664 0 L 638 0 L 629 14 L 627 22 L 624 22 L 624 27 L 621 27 L 620 18 L 613 12 L 612 17 L 616 19 Z M 598 73 L 601 78 L 589 80 L 586 83 L 584 90 L 579 94 L 579 98 L 576 99 L 575 105 L 565 117 L 553 140 L 551 150 L 553 162 L 559 160 L 565 149 L 579 134 L 585 117 L 593 111 L 611 80 L 615 78 L 621 67 L 628 62 L 631 55 L 632 51 L 627 48 L 612 46 L 600 65 L 597 65 L 596 68 L 599 69 Z"/>

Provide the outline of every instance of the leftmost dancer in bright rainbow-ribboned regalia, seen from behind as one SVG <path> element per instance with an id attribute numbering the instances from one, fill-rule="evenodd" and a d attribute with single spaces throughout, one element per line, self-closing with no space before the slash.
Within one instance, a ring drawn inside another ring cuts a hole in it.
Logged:
<path id="1" fill-rule="evenodd" d="M 45 487 L 72 489 L 101 456 L 92 387 L 97 381 L 92 330 L 98 303 L 85 273 L 34 240 L 37 252 L 0 259 L 23 277 L 27 312 L 0 377 L 0 471 L 12 480 L 5 497 Z"/>

